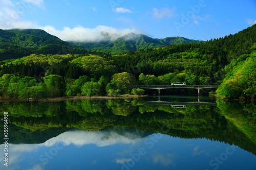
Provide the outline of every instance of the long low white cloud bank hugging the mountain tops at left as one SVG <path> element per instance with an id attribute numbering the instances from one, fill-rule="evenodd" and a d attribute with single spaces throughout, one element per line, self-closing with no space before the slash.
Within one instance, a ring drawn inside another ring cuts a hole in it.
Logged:
<path id="1" fill-rule="evenodd" d="M 2 14 L 0 13 L 0 16 Z M 75 28 L 64 27 L 62 30 L 57 30 L 52 26 L 41 27 L 37 23 L 32 21 L 14 20 L 6 18 L 6 20 L 0 20 L 0 29 L 41 29 L 45 30 L 49 34 L 55 35 L 64 41 L 75 42 L 100 42 L 100 41 L 114 41 L 117 38 L 129 33 L 140 34 L 138 29 L 116 29 L 108 26 L 97 26 L 95 28 L 84 28 L 77 26 Z"/>

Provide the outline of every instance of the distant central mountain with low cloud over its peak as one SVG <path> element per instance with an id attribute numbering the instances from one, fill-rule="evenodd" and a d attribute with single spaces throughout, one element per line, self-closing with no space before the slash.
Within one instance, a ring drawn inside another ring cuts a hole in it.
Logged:
<path id="1" fill-rule="evenodd" d="M 146 48 L 157 48 L 172 44 L 182 44 L 182 43 L 199 43 L 204 41 L 190 40 L 184 37 L 166 37 L 163 39 L 151 38 L 143 34 L 129 33 L 122 37 L 119 37 L 115 41 L 101 41 L 101 42 L 83 42 L 74 44 L 81 45 L 85 48 L 94 49 L 97 51 L 119 54 L 129 50 L 139 50 Z"/>

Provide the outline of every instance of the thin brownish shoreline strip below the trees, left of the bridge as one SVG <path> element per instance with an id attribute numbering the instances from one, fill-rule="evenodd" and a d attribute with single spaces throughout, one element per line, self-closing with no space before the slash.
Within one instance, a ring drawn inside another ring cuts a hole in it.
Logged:
<path id="1" fill-rule="evenodd" d="M 38 102 L 58 102 L 58 101 L 73 101 L 73 100 L 101 100 L 101 99 L 134 99 L 134 98 L 144 98 L 147 95 L 120 95 L 120 96 L 62 96 L 56 98 L 48 98 L 48 99 L 40 99 Z M 7 99 L 7 98 L 0 98 L 0 102 L 33 102 L 31 98 L 29 101 L 27 99 Z"/>

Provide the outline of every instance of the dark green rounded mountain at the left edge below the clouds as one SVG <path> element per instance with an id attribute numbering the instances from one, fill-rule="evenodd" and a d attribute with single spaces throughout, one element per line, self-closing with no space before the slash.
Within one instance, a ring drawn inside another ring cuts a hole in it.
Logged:
<path id="1" fill-rule="evenodd" d="M 33 53 L 63 54 L 73 44 L 39 29 L 0 29 L 0 60 L 15 59 Z"/>

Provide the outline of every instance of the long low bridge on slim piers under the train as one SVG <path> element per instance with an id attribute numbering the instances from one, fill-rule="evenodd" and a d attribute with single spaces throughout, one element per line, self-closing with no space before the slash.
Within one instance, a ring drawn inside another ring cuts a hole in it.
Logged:
<path id="1" fill-rule="evenodd" d="M 219 85 L 134 85 L 134 86 L 125 86 L 125 87 L 126 88 L 157 89 L 158 95 L 160 95 L 161 89 L 192 88 L 192 89 L 198 89 L 198 95 L 200 95 L 200 89 L 218 88 Z"/>

